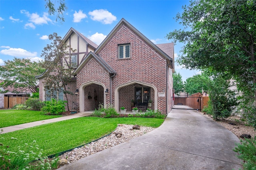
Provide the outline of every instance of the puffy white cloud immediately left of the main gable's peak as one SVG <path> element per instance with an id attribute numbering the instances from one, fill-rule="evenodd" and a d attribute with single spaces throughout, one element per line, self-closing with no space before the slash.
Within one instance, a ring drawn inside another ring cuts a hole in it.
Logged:
<path id="1" fill-rule="evenodd" d="M 104 24 L 110 24 L 113 21 L 116 21 L 116 16 L 113 16 L 110 12 L 107 10 L 94 10 L 92 12 L 89 12 L 89 15 L 91 16 L 91 19 L 94 21 L 100 21 Z"/>

